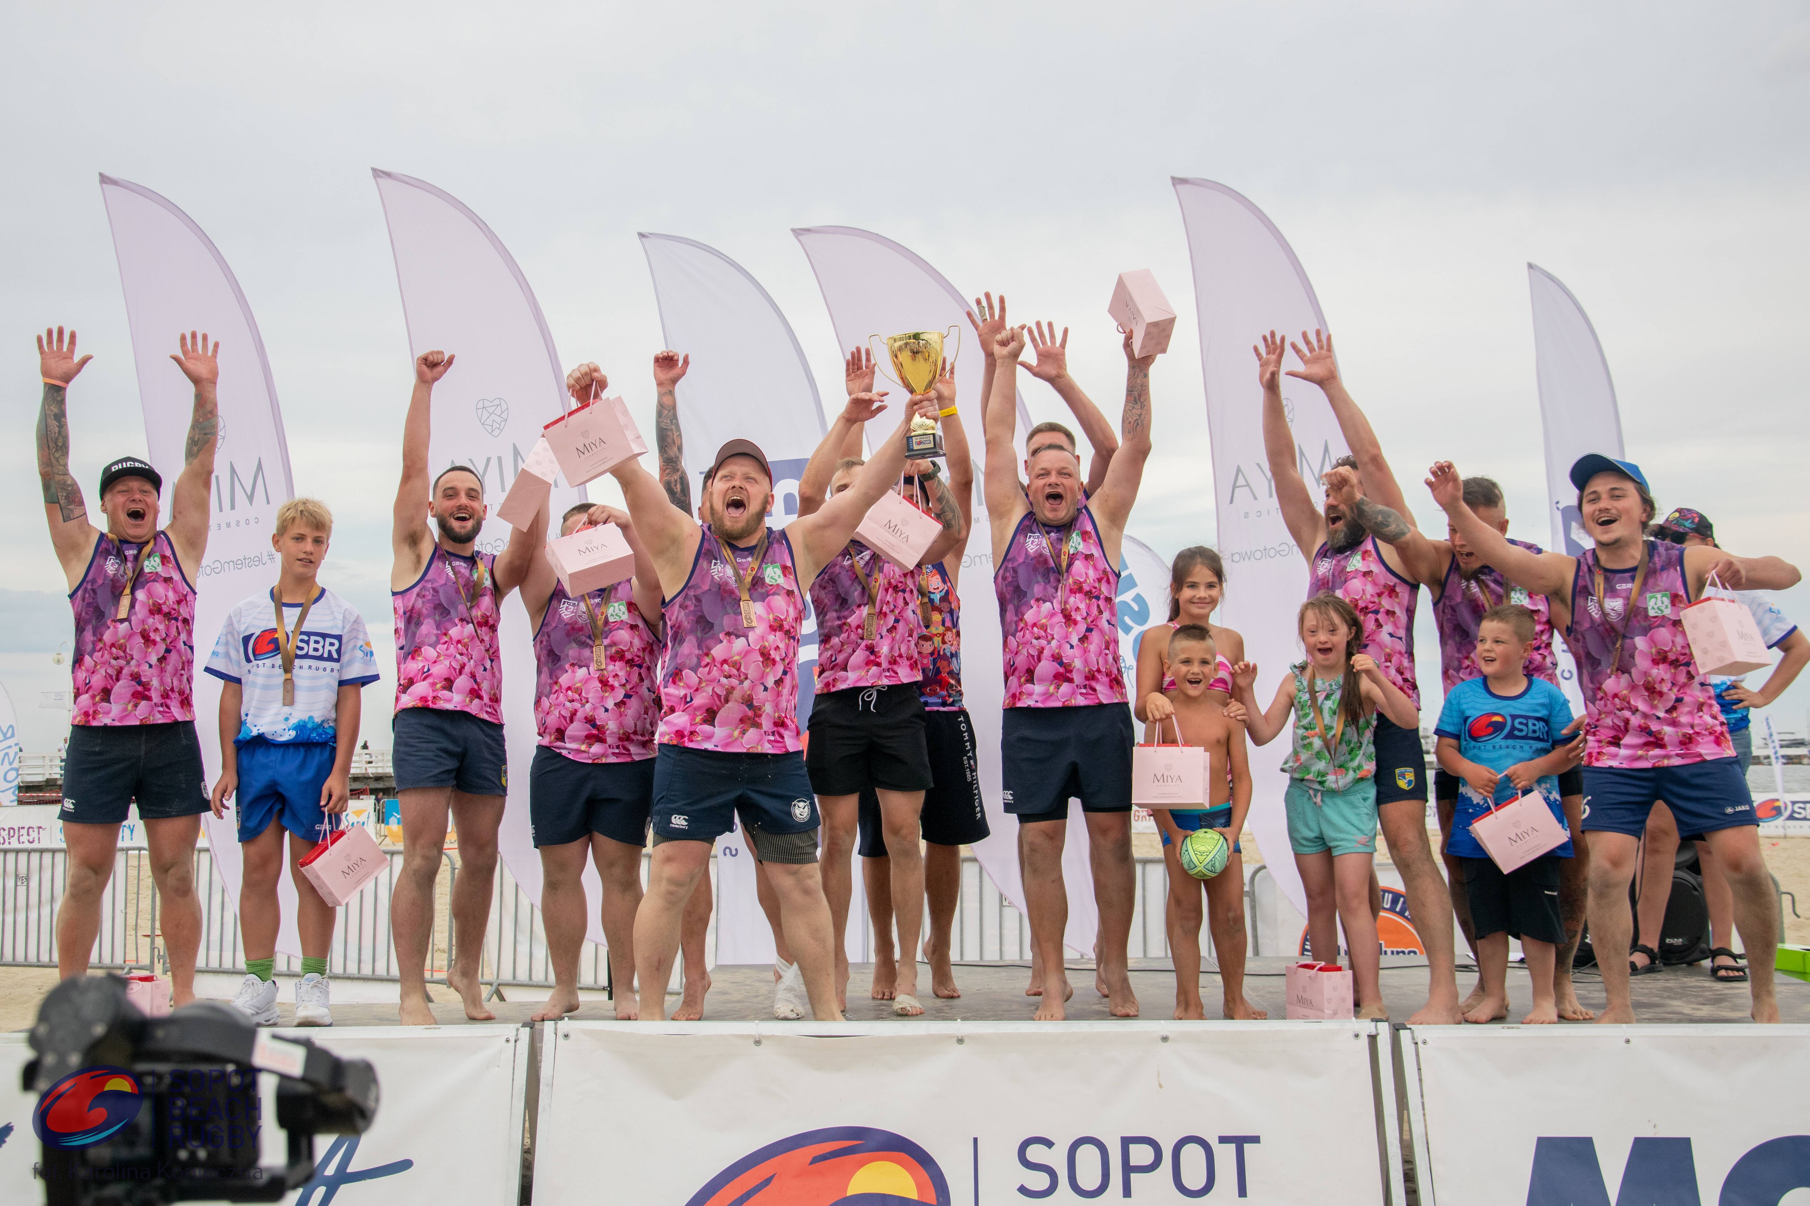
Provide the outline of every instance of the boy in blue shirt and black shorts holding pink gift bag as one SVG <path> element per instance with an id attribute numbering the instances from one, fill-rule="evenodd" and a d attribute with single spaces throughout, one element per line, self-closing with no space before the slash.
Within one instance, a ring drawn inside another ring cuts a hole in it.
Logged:
<path id="1" fill-rule="evenodd" d="M 1553 819 L 1566 828 L 1558 777 L 1577 765 L 1578 745 L 1564 740 L 1571 705 L 1558 687 L 1524 673 L 1533 645 L 1533 613 L 1517 604 L 1491 608 L 1477 624 L 1482 678 L 1446 694 L 1439 712 L 1439 767 L 1462 779 L 1446 852 L 1464 873 L 1464 895 L 1477 928 L 1477 973 L 1482 998 L 1466 1022 L 1508 1016 L 1508 938 L 1520 938 L 1533 978 L 1533 1013 L 1522 1025 L 1558 1022 L 1553 993 L 1557 951 L 1566 942 L 1558 911 L 1558 861 L 1571 841 L 1506 875 L 1490 859 L 1472 824 L 1497 805 L 1538 790 Z"/>

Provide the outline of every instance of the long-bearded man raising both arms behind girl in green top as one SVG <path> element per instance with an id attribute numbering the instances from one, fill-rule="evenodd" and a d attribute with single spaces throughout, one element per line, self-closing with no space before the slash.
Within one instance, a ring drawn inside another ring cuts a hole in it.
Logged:
<path id="1" fill-rule="evenodd" d="M 1263 387 L 1263 450 L 1274 481 L 1276 503 L 1289 524 L 1301 555 L 1307 557 L 1307 597 L 1332 593 L 1363 620 L 1363 651 L 1383 674 L 1415 707 L 1421 689 L 1414 674 L 1414 611 L 1421 584 L 1408 570 L 1401 553 L 1377 541 L 1345 504 L 1325 497 L 1325 513 L 1314 506 L 1314 495 L 1301 479 L 1301 450 L 1289 430 L 1287 409 L 1281 401 L 1281 378 L 1294 376 L 1318 385 L 1332 416 L 1339 423 L 1352 456 L 1332 463 L 1334 470 L 1350 468 L 1363 483 L 1363 492 L 1396 515 L 1406 517 L 1408 504 L 1396 485 L 1396 476 L 1383 457 L 1370 421 L 1345 391 L 1332 340 L 1321 333 L 1301 333 L 1294 354 L 1301 367 L 1281 371 L 1287 340 L 1271 331 L 1262 347 L 1253 347 L 1258 360 L 1258 382 Z M 1410 521 L 1412 526 L 1412 521 Z M 1309 551 L 1312 550 L 1312 551 Z M 1376 718 L 1376 810 L 1388 841 L 1388 855 L 1401 873 L 1403 893 L 1414 929 L 1426 947 L 1428 994 L 1426 1003 L 1408 1018 L 1410 1025 L 1457 1023 L 1459 984 L 1452 951 L 1452 895 L 1434 861 L 1434 846 L 1426 839 L 1426 752 L 1421 734 L 1403 729 L 1386 716 Z M 1377 900 L 1372 900 L 1376 908 Z"/>

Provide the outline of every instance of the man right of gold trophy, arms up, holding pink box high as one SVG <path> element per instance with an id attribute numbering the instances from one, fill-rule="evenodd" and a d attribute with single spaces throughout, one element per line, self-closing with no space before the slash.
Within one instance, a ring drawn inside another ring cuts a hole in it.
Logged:
<path id="1" fill-rule="evenodd" d="M 1082 499 L 1081 461 L 1048 439 L 1026 452 L 1019 481 L 1012 429 L 1024 327 L 1008 327 L 986 351 L 994 398 L 986 407 L 986 512 L 994 537 L 994 591 L 1005 636 L 1005 716 L 999 732 L 1001 796 L 1019 819 L 1019 862 L 1032 940 L 1044 976 L 1039 1022 L 1061 1022 L 1073 996 L 1062 969 L 1068 890 L 1062 846 L 1068 801 L 1088 824 L 1095 947 L 1115 1018 L 1135 1018 L 1126 946 L 1135 906 L 1131 861 L 1131 709 L 1119 664 L 1119 557 L 1124 524 L 1149 457 L 1149 365 L 1124 336 L 1122 441 L 1100 488 Z"/>

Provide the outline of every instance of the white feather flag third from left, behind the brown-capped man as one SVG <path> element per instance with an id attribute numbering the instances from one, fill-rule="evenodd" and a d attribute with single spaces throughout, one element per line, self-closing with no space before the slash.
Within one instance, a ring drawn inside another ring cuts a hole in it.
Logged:
<path id="1" fill-rule="evenodd" d="M 729 439 L 753 439 L 773 468 L 773 515 L 784 528 L 798 517 L 798 479 L 822 443 L 824 409 L 798 336 L 748 269 L 722 251 L 677 235 L 641 235 L 653 275 L 666 347 L 691 356 L 679 383 L 691 506 L 702 497 L 711 457 Z M 816 617 L 805 598 L 798 633 L 798 723 L 811 714 L 816 673 Z M 854 859 L 849 958 L 865 960 L 867 908 Z M 773 931 L 755 897 L 755 859 L 742 830 L 717 841 L 717 962 L 771 964 Z"/>

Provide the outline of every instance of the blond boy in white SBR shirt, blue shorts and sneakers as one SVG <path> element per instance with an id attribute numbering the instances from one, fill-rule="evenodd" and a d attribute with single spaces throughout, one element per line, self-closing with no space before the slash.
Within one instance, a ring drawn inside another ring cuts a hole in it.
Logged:
<path id="1" fill-rule="evenodd" d="M 282 835 L 290 834 L 295 928 L 302 978 L 295 985 L 295 1025 L 333 1025 L 328 949 L 335 909 L 302 875 L 300 861 L 331 828 L 344 824 L 351 752 L 358 743 L 358 689 L 376 682 L 376 658 L 364 620 L 315 579 L 333 537 L 333 513 L 315 499 L 277 508 L 272 548 L 282 562 L 275 589 L 252 595 L 226 615 L 206 671 L 221 689 L 221 777 L 214 815 L 239 796 L 239 926 L 244 982 L 233 1005 L 257 1025 L 277 1025 L 277 929 L 282 911 Z"/>

